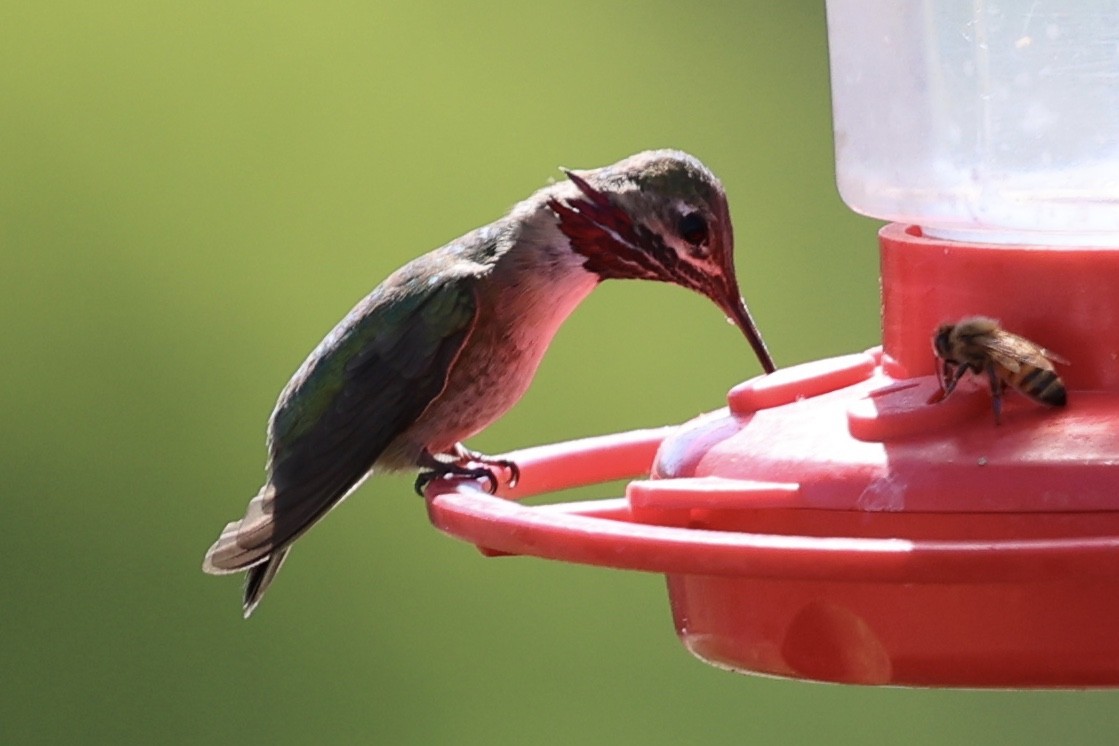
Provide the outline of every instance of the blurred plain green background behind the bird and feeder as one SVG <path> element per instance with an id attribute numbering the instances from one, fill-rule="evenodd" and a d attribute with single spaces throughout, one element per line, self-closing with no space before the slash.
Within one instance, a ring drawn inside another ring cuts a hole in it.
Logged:
<path id="1" fill-rule="evenodd" d="M 709 668 L 660 577 L 483 559 L 404 478 L 301 541 L 250 622 L 199 569 L 321 336 L 557 166 L 694 152 L 778 361 L 875 343 L 822 3 L 11 2 L 0 93 L 0 743 L 1113 740 L 1111 692 Z M 708 302 L 608 283 L 472 445 L 685 421 L 755 372 Z"/>

